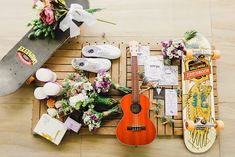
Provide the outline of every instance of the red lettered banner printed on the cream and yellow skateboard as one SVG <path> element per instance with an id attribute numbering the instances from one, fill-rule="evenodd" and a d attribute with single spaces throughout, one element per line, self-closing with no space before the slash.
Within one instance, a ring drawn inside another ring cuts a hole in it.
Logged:
<path id="1" fill-rule="evenodd" d="M 202 75 L 209 75 L 210 73 L 211 73 L 210 67 L 187 71 L 187 72 L 184 72 L 184 79 L 189 80 L 189 79 L 196 78 Z"/>

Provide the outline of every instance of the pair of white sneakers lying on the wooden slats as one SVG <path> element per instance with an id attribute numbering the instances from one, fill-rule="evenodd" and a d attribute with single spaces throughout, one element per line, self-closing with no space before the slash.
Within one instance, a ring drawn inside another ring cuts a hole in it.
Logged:
<path id="1" fill-rule="evenodd" d="M 109 59 L 118 59 L 121 56 L 121 51 L 119 48 L 108 44 L 87 45 L 83 47 L 82 54 L 90 58 L 73 59 L 73 68 L 98 73 L 100 70 L 108 71 L 111 68 Z"/>

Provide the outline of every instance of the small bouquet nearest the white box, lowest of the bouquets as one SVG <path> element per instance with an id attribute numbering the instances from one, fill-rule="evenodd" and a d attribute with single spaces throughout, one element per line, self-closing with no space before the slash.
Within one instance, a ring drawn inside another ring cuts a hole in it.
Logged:
<path id="1" fill-rule="evenodd" d="M 104 112 L 97 112 L 94 109 L 89 109 L 88 111 L 83 113 L 82 119 L 84 124 L 88 126 L 89 131 L 95 133 L 96 130 L 100 127 L 100 124 L 104 117 L 118 113 L 121 113 L 119 105 L 116 105 L 113 108 Z"/>

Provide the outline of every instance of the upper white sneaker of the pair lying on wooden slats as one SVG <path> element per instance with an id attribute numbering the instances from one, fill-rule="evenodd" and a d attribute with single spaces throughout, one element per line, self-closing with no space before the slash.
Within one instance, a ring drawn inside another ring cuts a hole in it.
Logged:
<path id="1" fill-rule="evenodd" d="M 113 45 L 87 45 L 82 48 L 82 54 L 86 57 L 117 59 L 121 51 Z"/>

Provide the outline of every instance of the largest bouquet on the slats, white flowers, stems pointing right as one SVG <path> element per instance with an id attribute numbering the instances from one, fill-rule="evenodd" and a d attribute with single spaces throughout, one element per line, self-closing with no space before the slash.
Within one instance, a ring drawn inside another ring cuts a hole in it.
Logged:
<path id="1" fill-rule="evenodd" d="M 88 78 L 79 73 L 68 74 L 62 82 L 63 95 L 60 103 L 64 115 L 72 113 L 74 110 L 86 111 L 96 105 L 112 107 L 119 103 L 113 98 L 106 98 L 98 95 Z"/>

